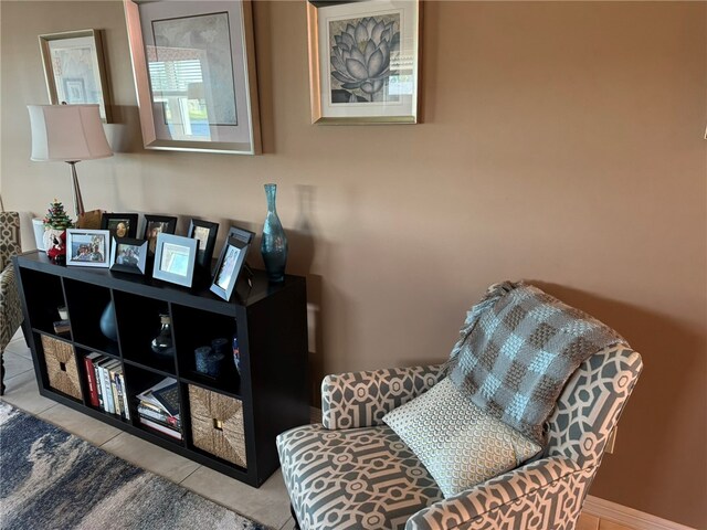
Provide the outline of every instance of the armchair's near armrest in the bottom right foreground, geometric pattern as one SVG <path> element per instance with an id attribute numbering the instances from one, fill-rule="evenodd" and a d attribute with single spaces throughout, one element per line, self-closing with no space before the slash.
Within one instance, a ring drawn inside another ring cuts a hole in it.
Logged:
<path id="1" fill-rule="evenodd" d="M 544 458 L 420 510 L 405 530 L 571 530 L 595 470 Z"/>

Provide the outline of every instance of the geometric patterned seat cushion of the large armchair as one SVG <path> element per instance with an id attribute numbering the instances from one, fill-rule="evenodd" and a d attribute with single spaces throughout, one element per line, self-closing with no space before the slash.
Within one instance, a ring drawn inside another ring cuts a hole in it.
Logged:
<path id="1" fill-rule="evenodd" d="M 283 477 L 303 530 L 402 529 L 442 491 L 387 425 L 277 437 Z"/>

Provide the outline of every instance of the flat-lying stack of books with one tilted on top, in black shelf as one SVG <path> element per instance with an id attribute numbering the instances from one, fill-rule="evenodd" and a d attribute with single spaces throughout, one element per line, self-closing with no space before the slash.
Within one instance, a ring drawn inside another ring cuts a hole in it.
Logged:
<path id="1" fill-rule="evenodd" d="M 179 391 L 175 379 L 165 378 L 137 398 L 137 414 L 143 425 L 175 439 L 182 439 Z"/>

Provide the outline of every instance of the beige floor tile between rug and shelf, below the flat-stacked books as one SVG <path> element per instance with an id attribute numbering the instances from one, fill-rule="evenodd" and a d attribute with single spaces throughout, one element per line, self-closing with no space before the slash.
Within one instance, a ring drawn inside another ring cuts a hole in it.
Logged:
<path id="1" fill-rule="evenodd" d="M 196 462 L 128 433 L 118 434 L 101 448 L 175 483 L 182 481 L 200 467 Z"/>

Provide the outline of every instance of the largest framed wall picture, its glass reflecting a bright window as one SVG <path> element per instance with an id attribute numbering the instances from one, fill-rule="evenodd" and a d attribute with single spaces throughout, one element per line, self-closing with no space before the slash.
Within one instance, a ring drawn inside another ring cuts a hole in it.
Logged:
<path id="1" fill-rule="evenodd" d="M 250 0 L 124 0 L 147 149 L 261 152 Z"/>

